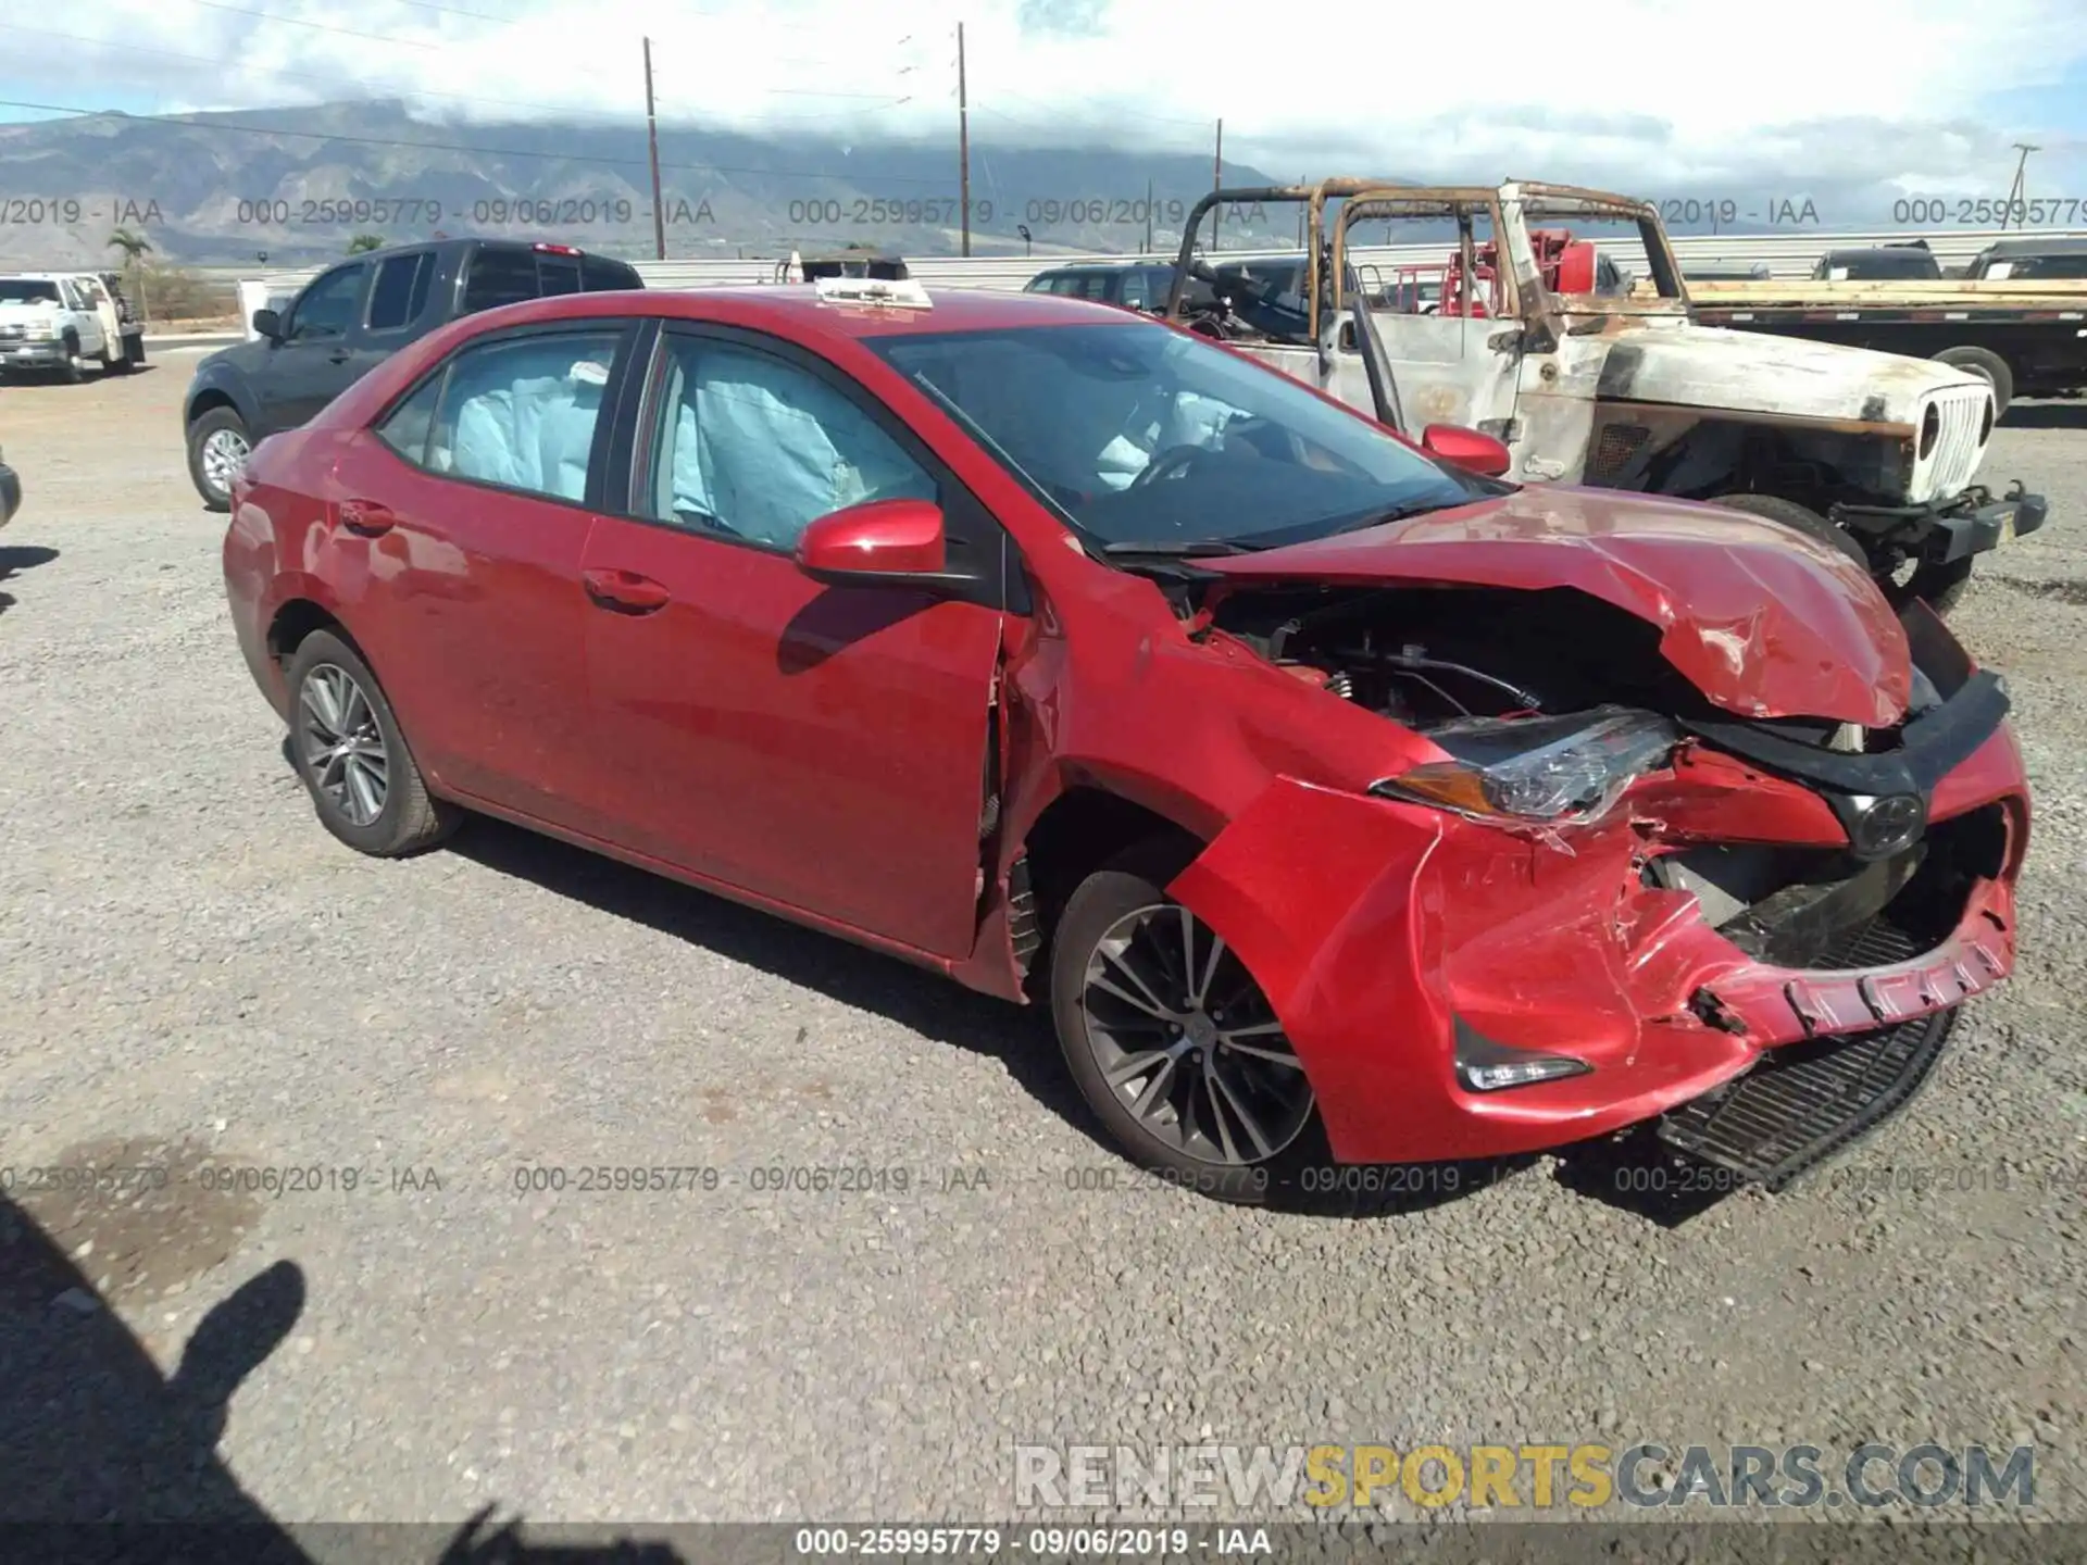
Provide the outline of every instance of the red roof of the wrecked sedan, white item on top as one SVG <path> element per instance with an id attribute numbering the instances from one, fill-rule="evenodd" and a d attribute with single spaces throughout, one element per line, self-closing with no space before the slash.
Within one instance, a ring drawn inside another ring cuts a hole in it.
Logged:
<path id="1" fill-rule="evenodd" d="M 645 292 L 553 294 L 505 305 L 472 319 L 503 326 L 589 319 L 595 315 L 655 315 L 787 330 L 791 336 L 872 338 L 929 336 L 935 332 L 1000 332 L 1018 326 L 1100 326 L 1135 321 L 1114 305 L 1064 294 L 993 292 L 985 288 L 929 288 L 933 309 L 822 300 L 816 284 L 768 288 L 647 288 Z"/>

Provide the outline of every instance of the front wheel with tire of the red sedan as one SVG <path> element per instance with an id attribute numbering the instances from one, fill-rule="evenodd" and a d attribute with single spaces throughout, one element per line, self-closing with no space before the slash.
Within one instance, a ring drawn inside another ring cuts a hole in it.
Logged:
<path id="1" fill-rule="evenodd" d="M 1311 1083 L 1238 956 L 1167 899 L 1162 887 L 1179 864 L 1160 864 L 1162 856 L 1148 847 L 1096 870 L 1056 920 L 1050 1000 L 1058 1045 L 1087 1106 L 1131 1162 L 1242 1206 L 1294 1198 L 1294 1171 L 1327 1158 Z M 1169 983 L 1179 970 L 1202 977 L 1202 1004 L 1190 985 Z M 1106 977 L 1108 989 L 1098 989 L 1096 977 Z M 1158 1008 L 1148 1004 L 1154 1000 Z M 1183 1022 L 1160 1020 L 1162 1010 Z M 1227 1010 L 1238 1033 L 1219 1031 Z M 1125 1077 L 1137 1058 L 1150 1068 Z"/>

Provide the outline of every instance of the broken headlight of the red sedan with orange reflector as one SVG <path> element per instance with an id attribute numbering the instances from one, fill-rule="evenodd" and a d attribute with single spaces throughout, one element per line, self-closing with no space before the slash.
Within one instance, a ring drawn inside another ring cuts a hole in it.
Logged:
<path id="1" fill-rule="evenodd" d="M 1494 826 L 1576 826 L 1605 816 L 1682 741 L 1651 712 L 1594 707 L 1559 718 L 1459 718 L 1428 739 L 1453 760 L 1371 785 L 1371 793 Z"/>

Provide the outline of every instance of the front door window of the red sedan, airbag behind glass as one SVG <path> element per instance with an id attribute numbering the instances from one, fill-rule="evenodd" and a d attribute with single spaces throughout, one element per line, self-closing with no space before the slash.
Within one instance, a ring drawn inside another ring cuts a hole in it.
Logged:
<path id="1" fill-rule="evenodd" d="M 691 336 L 666 338 L 651 474 L 653 520 L 770 549 L 847 505 L 937 499 L 935 478 L 820 376 Z"/>

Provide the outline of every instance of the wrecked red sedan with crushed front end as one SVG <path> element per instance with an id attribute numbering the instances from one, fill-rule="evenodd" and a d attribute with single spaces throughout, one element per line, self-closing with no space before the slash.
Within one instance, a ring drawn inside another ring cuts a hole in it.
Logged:
<path id="1" fill-rule="evenodd" d="M 340 841 L 1048 1002 L 1196 1187 L 1642 1121 L 1780 1183 L 2014 964 L 2006 687 L 1774 522 L 1423 447 L 1046 294 L 574 294 L 261 442 L 225 584 Z"/>

